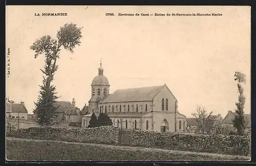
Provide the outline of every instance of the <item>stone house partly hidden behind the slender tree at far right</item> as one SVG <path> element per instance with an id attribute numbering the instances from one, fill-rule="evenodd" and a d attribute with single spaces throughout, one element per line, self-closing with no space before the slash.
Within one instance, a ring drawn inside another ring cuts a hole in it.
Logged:
<path id="1" fill-rule="evenodd" d="M 226 117 L 223 119 L 221 123 L 221 129 L 222 129 L 222 134 L 229 134 L 230 132 L 236 132 L 236 128 L 233 127 L 233 122 L 232 120 L 236 116 L 236 113 L 232 112 L 231 110 L 228 110 L 228 113 Z M 251 115 L 250 114 L 244 114 L 245 118 L 245 133 L 250 132 L 251 129 Z"/>

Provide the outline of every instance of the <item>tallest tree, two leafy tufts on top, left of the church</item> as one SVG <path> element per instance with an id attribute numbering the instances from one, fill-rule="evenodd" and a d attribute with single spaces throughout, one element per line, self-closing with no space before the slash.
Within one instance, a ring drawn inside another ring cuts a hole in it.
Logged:
<path id="1" fill-rule="evenodd" d="M 56 118 L 55 102 L 58 97 L 52 81 L 58 69 L 56 62 L 60 56 L 61 47 L 73 53 L 75 46 L 81 43 L 81 29 L 82 27 L 77 27 L 76 24 L 66 23 L 57 31 L 56 38 L 49 35 L 42 36 L 30 46 L 30 49 L 35 52 L 35 58 L 40 54 L 46 58 L 44 70 L 40 69 L 44 79 L 40 85 L 38 99 L 34 102 L 36 122 L 41 126 L 51 125 Z"/>

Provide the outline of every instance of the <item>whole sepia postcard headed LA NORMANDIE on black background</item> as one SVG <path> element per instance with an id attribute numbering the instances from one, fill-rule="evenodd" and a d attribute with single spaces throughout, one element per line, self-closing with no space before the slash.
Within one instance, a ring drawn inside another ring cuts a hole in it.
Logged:
<path id="1" fill-rule="evenodd" d="M 250 13 L 6 6 L 6 160 L 249 161 Z"/>

